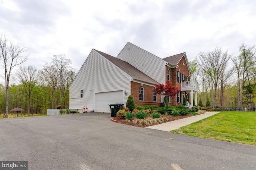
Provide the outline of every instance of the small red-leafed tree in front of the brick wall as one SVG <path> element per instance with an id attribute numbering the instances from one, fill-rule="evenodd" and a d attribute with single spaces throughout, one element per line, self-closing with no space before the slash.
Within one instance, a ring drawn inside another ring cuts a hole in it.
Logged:
<path id="1" fill-rule="evenodd" d="M 166 107 L 166 101 L 164 97 L 173 97 L 176 96 L 180 92 L 180 88 L 172 86 L 170 82 L 167 80 L 166 84 L 155 84 L 154 88 L 156 94 L 160 94 L 162 101 L 164 101 L 164 107 Z"/>

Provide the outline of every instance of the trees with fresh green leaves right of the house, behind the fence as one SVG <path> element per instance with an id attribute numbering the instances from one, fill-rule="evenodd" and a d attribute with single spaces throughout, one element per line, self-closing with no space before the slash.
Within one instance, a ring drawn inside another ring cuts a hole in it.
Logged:
<path id="1" fill-rule="evenodd" d="M 232 56 L 216 47 L 201 52 L 190 62 L 192 78 L 198 82 L 199 105 L 212 107 L 255 107 L 256 47 L 244 43 L 240 54 Z"/>

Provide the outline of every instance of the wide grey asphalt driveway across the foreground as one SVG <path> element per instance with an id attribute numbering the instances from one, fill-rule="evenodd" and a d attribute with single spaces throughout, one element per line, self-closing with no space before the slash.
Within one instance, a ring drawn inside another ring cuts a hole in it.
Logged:
<path id="1" fill-rule="evenodd" d="M 256 147 L 81 113 L 0 119 L 0 160 L 27 160 L 29 170 L 254 170 Z"/>

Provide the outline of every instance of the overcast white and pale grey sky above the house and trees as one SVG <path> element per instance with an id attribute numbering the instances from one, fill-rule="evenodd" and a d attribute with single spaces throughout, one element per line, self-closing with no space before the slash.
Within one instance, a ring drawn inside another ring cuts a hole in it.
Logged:
<path id="1" fill-rule="evenodd" d="M 78 72 L 92 49 L 116 57 L 130 42 L 192 61 L 215 47 L 239 55 L 256 43 L 255 0 L 0 0 L 0 33 L 24 45 L 22 66 L 65 54 Z M 25 54 L 24 54 L 25 55 Z"/>

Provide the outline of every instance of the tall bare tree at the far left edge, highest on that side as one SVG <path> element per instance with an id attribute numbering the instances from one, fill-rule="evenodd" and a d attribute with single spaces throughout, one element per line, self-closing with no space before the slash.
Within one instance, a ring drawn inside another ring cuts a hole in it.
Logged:
<path id="1" fill-rule="evenodd" d="M 0 59 L 4 67 L 4 80 L 6 89 L 6 107 L 5 115 L 8 117 L 8 95 L 9 95 L 9 82 L 12 69 L 24 63 L 28 59 L 28 55 L 21 56 L 22 53 L 27 51 L 22 45 L 14 44 L 6 35 L 0 34 Z"/>

